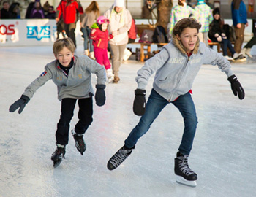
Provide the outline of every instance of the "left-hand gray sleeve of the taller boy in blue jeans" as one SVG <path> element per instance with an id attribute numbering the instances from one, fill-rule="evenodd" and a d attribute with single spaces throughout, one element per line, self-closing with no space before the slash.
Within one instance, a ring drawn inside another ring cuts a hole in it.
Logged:
<path id="1" fill-rule="evenodd" d="M 144 66 L 138 70 L 137 77 L 135 78 L 136 82 L 138 83 L 138 89 L 146 89 L 149 77 L 151 77 L 154 72 L 157 72 L 159 68 L 164 66 L 169 57 L 169 53 L 165 47 L 163 47 L 162 50 L 157 53 L 157 55 L 154 55 L 153 58 L 146 61 Z"/>

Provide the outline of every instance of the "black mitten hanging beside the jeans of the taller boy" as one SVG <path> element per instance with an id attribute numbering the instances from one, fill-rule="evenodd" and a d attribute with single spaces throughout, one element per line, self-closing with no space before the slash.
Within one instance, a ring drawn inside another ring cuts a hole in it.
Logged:
<path id="1" fill-rule="evenodd" d="M 135 100 L 133 101 L 133 112 L 135 115 L 141 116 L 146 109 L 146 90 L 135 90 Z"/>

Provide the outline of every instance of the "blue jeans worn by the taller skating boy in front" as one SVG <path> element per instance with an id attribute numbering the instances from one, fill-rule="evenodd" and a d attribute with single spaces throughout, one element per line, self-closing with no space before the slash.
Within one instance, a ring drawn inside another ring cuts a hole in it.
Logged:
<path id="1" fill-rule="evenodd" d="M 168 102 L 160 96 L 159 93 L 152 89 L 151 95 L 148 98 L 148 103 L 146 104 L 146 112 L 142 117 L 140 117 L 140 122 L 135 126 L 135 128 L 133 128 L 132 132 L 124 141 L 125 146 L 128 148 L 135 147 L 138 139 L 146 134 L 162 109 L 170 103 L 178 108 L 184 118 L 184 133 L 178 150 L 184 155 L 189 155 L 197 128 L 197 115 L 190 93 L 179 96 L 176 101 Z"/>

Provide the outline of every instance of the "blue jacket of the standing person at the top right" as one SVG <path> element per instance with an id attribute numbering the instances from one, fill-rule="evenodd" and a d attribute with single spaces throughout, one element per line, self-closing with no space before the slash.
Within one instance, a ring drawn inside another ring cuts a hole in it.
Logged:
<path id="1" fill-rule="evenodd" d="M 247 12 L 246 12 L 246 6 L 244 4 L 244 1 L 241 1 L 239 9 L 235 9 L 234 4 L 232 2 L 231 12 L 232 12 L 233 26 L 236 27 L 238 23 L 244 23 L 244 24 L 247 23 Z"/>

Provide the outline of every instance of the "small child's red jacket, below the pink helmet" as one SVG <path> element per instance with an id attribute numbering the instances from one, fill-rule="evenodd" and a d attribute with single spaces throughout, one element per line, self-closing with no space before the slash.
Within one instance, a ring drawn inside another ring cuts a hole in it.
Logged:
<path id="1" fill-rule="evenodd" d="M 108 48 L 108 41 L 113 39 L 113 35 L 108 35 L 108 30 L 101 31 L 99 28 L 93 28 L 91 31 L 96 30 L 94 34 L 90 34 L 90 39 L 92 39 L 92 45 L 94 47 L 107 49 Z"/>

